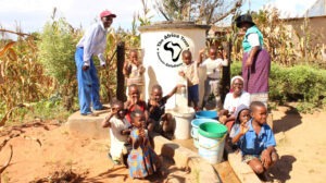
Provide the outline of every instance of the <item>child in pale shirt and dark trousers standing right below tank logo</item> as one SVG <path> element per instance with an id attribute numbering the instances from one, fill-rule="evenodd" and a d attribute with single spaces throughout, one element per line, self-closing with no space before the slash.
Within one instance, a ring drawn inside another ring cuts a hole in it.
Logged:
<path id="1" fill-rule="evenodd" d="M 189 50 L 183 52 L 183 65 L 179 69 L 179 75 L 187 80 L 188 89 L 188 106 L 193 103 L 195 111 L 198 111 L 199 91 L 198 84 L 199 77 L 197 72 L 197 63 L 192 61 L 192 56 Z"/>

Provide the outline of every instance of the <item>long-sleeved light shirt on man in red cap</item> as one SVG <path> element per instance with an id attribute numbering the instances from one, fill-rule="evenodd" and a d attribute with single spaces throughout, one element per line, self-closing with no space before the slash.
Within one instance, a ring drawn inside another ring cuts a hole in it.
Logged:
<path id="1" fill-rule="evenodd" d="M 103 52 L 106 48 L 106 33 L 103 23 L 100 21 L 86 30 L 77 47 L 84 47 L 84 65 L 89 65 L 93 54 L 98 56 L 101 65 L 105 64 Z"/>

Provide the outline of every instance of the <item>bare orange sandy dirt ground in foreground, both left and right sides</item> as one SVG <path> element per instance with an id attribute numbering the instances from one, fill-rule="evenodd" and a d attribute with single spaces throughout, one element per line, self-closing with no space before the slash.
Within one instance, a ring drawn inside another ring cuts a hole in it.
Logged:
<path id="1" fill-rule="evenodd" d="M 274 132 L 280 160 L 271 175 L 280 182 L 325 182 L 326 112 L 300 114 L 290 106 L 273 111 Z M 45 124 L 45 125 L 42 125 Z M 196 182 L 192 173 L 164 159 L 166 176 L 133 181 L 122 166 L 113 168 L 106 158 L 108 139 L 71 136 L 65 125 L 55 121 L 0 131 L 0 163 L 13 156 L 2 172 L 2 183 L 47 182 L 61 178 L 76 182 Z M 175 181 L 173 181 L 175 180 Z"/>

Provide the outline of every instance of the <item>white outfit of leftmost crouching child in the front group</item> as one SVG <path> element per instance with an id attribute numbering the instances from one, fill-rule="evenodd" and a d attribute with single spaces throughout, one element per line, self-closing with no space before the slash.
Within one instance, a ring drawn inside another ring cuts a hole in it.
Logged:
<path id="1" fill-rule="evenodd" d="M 122 135 L 121 131 L 128 129 L 130 124 L 127 122 L 126 119 L 121 120 L 116 117 L 112 117 L 110 123 L 110 154 L 113 160 L 118 160 L 123 151 L 124 144 L 126 143 L 128 137 L 127 135 Z"/>

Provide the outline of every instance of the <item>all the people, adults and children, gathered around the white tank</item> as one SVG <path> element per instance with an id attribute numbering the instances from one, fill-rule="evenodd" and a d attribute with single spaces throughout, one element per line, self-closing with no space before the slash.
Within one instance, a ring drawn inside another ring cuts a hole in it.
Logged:
<path id="1" fill-rule="evenodd" d="M 92 114 L 93 110 L 103 109 L 99 97 L 99 80 L 92 56 L 98 56 L 101 65 L 105 66 L 103 52 L 106 47 L 106 32 L 113 19 L 110 11 L 100 14 L 101 21 L 91 26 L 77 44 L 75 53 L 78 81 L 80 113 Z M 226 95 L 220 121 L 228 127 L 231 142 L 240 148 L 243 161 L 258 174 L 264 172 L 277 160 L 275 139 L 271 127 L 266 124 L 268 75 L 271 57 L 263 48 L 263 35 L 248 14 L 236 19 L 236 25 L 244 32 L 242 41 L 243 60 L 242 76 L 231 78 L 231 89 Z M 124 162 L 131 178 L 146 178 L 159 170 L 162 163 L 152 149 L 151 137 L 154 132 L 171 137 L 174 131 L 172 114 L 165 113 L 165 103 L 177 89 L 187 87 L 188 106 L 196 111 L 206 108 L 210 100 L 215 100 L 215 108 L 222 106 L 220 98 L 221 69 L 228 64 L 226 52 L 215 47 L 200 50 L 198 61 L 192 60 L 190 50 L 181 53 L 183 65 L 178 74 L 187 80 L 187 86 L 177 85 L 163 97 L 160 85 L 151 88 L 150 98 L 142 100 L 143 73 L 146 69 L 138 60 L 137 50 L 129 52 L 129 61 L 125 63 L 123 73 L 127 81 L 127 101 L 114 100 L 112 110 L 103 120 L 103 127 L 111 127 L 110 158 L 115 163 Z M 204 98 L 199 105 L 198 68 L 205 68 Z M 208 108 L 206 108 L 208 109 Z M 160 171 L 162 172 L 162 171 Z"/>

